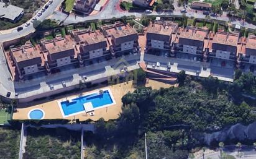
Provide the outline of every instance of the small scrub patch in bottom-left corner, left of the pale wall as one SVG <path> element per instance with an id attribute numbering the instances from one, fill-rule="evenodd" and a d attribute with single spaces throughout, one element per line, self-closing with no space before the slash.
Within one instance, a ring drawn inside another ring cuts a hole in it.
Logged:
<path id="1" fill-rule="evenodd" d="M 20 131 L 0 128 L 0 158 L 19 158 Z"/>

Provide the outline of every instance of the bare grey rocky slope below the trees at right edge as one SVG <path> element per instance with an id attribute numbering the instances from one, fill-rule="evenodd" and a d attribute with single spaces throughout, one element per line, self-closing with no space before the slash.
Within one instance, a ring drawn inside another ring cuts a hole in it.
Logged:
<path id="1" fill-rule="evenodd" d="M 210 145 L 213 140 L 217 142 L 224 142 L 225 140 L 256 140 L 256 122 L 248 126 L 235 124 L 234 126 L 211 134 L 204 133 L 203 138 L 204 142 L 208 145 Z"/>

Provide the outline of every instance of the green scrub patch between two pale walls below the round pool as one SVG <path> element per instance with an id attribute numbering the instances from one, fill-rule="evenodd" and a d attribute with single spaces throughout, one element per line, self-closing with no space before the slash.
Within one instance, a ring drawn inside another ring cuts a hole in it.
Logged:
<path id="1" fill-rule="evenodd" d="M 81 133 L 67 129 L 28 129 L 24 159 L 80 158 Z"/>

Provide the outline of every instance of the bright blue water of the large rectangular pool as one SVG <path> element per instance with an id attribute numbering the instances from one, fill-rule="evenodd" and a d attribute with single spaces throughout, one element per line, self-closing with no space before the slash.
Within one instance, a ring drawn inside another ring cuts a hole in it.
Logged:
<path id="1" fill-rule="evenodd" d="M 93 93 L 84 97 L 75 98 L 70 102 L 62 101 L 60 104 L 62 105 L 63 113 L 65 116 L 68 116 L 73 113 L 85 111 L 83 104 L 88 102 L 93 104 L 93 108 L 113 103 L 112 98 L 109 95 L 109 91 L 105 90 L 102 94 Z"/>

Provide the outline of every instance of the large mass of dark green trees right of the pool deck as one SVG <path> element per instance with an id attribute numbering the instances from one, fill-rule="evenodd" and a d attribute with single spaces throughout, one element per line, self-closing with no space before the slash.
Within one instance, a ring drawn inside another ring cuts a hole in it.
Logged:
<path id="1" fill-rule="evenodd" d="M 248 75 L 236 76 L 239 80 Z M 235 97 L 236 84 L 214 77 L 192 78 L 180 72 L 180 87 L 160 90 L 139 87 L 127 93 L 122 98 L 124 106 L 119 119 L 108 122 L 101 119 L 96 124 L 96 134 L 86 134 L 86 157 L 144 158 L 144 132 L 147 132 L 149 158 L 187 158 L 191 148 L 204 145 L 198 139 L 200 132 L 255 121 L 254 108 L 242 96 Z M 244 79 L 242 92 L 247 91 L 247 84 Z"/>

